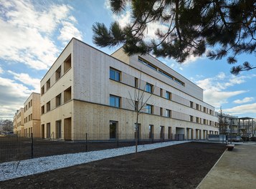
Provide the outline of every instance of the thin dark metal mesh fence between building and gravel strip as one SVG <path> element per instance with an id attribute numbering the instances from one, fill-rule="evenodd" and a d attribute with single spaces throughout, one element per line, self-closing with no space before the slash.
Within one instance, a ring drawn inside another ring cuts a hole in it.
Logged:
<path id="1" fill-rule="evenodd" d="M 99 138 L 107 138 L 100 134 L 85 133 L 84 140 L 81 136 L 73 136 L 74 139 L 80 140 L 63 140 L 62 138 L 38 138 L 31 134 L 28 137 L 19 135 L 2 135 L 0 136 L 0 163 L 24 160 L 29 158 L 39 158 L 50 155 L 62 155 L 67 153 L 88 152 L 93 150 L 105 150 L 117 147 L 126 147 L 135 145 L 135 135 L 119 135 L 108 140 L 97 140 Z M 184 135 L 161 135 L 161 137 L 151 135 L 146 137 L 140 135 L 138 145 L 150 144 L 154 142 L 166 142 L 173 140 L 184 140 Z"/>

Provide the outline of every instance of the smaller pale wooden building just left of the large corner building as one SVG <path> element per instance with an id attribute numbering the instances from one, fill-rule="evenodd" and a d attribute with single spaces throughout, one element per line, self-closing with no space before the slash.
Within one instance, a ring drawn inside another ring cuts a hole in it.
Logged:
<path id="1" fill-rule="evenodd" d="M 24 134 L 30 137 L 40 135 L 40 94 L 32 92 L 26 102 L 24 102 Z"/>

